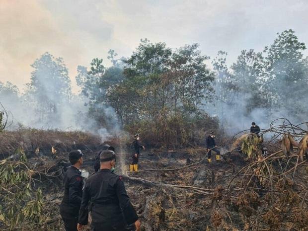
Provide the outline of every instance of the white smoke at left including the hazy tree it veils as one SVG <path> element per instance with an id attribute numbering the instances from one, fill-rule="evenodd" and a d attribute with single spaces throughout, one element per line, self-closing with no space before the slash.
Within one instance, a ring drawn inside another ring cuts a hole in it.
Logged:
<path id="1" fill-rule="evenodd" d="M 101 108 L 108 128 L 89 116 L 89 99 L 71 92 L 71 80 L 61 58 L 43 54 L 33 65 L 30 82 L 21 92 L 13 84 L 0 82 L 0 102 L 10 112 L 10 130 L 20 127 L 86 131 L 97 134 L 102 142 L 121 130 L 115 111 Z"/>

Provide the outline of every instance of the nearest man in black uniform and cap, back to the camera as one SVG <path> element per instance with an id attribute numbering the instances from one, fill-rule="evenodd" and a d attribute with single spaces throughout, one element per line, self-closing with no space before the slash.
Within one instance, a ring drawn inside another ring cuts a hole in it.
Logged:
<path id="1" fill-rule="evenodd" d="M 135 224 L 136 231 L 140 231 L 140 222 L 126 194 L 122 177 L 111 170 L 114 166 L 115 153 L 102 151 L 100 169 L 87 179 L 84 186 L 78 231 L 88 223 L 88 210 L 91 211 L 94 231 L 125 231 L 127 224 Z"/>

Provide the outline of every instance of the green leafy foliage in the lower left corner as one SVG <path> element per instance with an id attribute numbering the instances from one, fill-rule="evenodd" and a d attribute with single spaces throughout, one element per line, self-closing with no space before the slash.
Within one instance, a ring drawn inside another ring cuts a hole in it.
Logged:
<path id="1" fill-rule="evenodd" d="M 24 223 L 39 224 L 43 218 L 43 194 L 34 189 L 33 170 L 27 166 L 26 155 L 17 149 L 19 160 L 0 161 L 0 226 L 18 230 Z"/>

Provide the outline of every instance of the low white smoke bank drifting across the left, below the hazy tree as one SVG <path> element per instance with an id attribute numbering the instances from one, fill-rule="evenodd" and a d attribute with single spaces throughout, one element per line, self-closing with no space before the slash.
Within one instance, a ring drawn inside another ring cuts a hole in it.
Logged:
<path id="1" fill-rule="evenodd" d="M 43 130 L 84 131 L 99 135 L 102 142 L 120 131 L 120 125 L 117 123 L 116 114 L 113 109 L 107 108 L 105 110 L 108 118 L 112 118 L 109 123 L 114 124 L 112 126 L 114 129 L 107 130 L 107 128 L 102 127 L 97 121 L 89 117 L 89 108 L 84 105 L 85 99 L 80 95 L 73 95 L 69 101 L 58 103 L 56 114 L 47 120 L 42 119 L 36 108 L 31 106 L 31 102 L 27 101 L 28 97 L 26 95 L 15 95 L 12 98 L 10 94 L 7 95 L 1 92 L 0 99 L 5 110 L 10 112 L 9 121 L 13 122 L 7 128 L 8 130 L 35 128 Z"/>

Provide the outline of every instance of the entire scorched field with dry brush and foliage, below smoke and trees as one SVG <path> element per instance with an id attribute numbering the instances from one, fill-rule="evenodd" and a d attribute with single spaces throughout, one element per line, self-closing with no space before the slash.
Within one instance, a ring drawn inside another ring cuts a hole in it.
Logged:
<path id="1" fill-rule="evenodd" d="M 306 130 L 287 120 L 266 130 L 273 138 L 289 136 L 293 149 L 284 140 L 262 141 L 251 134 L 225 138 L 218 146 L 227 145 L 228 152 L 212 163 L 202 146 L 149 149 L 142 153 L 137 173 L 128 171 L 129 137 L 106 143 L 116 148 L 116 173 L 123 175 L 143 231 L 305 231 L 308 154 L 301 159 L 300 153 L 307 153 Z M 0 228 L 63 231 L 59 205 L 68 152 L 82 150 L 82 169 L 92 173 L 103 145 L 100 137 L 25 129 L 0 138 Z"/>

